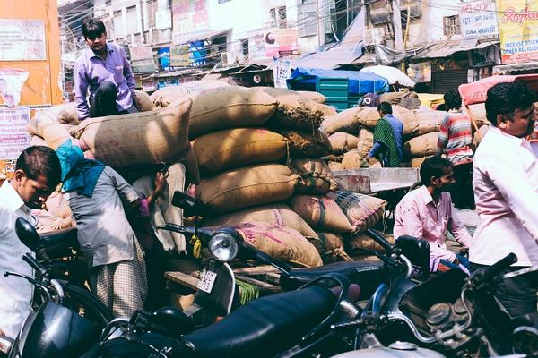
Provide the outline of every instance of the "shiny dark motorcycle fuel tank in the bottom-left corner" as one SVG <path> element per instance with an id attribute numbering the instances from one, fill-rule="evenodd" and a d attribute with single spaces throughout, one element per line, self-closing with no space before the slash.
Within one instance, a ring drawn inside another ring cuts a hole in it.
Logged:
<path id="1" fill-rule="evenodd" d="M 99 328 L 90 320 L 49 301 L 24 322 L 10 357 L 76 357 L 96 342 L 99 335 Z"/>

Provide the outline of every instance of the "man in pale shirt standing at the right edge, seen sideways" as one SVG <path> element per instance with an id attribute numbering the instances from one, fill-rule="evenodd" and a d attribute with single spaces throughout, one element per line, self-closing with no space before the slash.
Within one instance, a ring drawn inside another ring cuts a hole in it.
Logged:
<path id="1" fill-rule="evenodd" d="M 525 137 L 536 121 L 534 93 L 523 84 L 499 83 L 488 90 L 490 129 L 474 155 L 473 189 L 480 223 L 469 248 L 474 268 L 508 253 L 508 271 L 538 265 L 538 158 Z M 506 273 L 505 272 L 505 273 Z M 503 280 L 494 292 L 512 316 L 536 311 L 538 274 Z"/>

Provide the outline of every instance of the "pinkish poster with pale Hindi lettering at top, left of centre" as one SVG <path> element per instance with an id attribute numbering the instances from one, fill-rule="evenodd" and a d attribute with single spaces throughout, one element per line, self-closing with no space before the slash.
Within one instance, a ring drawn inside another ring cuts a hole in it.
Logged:
<path id="1" fill-rule="evenodd" d="M 207 30 L 209 15 L 205 0 L 172 1 L 172 38 L 175 45 L 181 45 L 193 35 Z"/>

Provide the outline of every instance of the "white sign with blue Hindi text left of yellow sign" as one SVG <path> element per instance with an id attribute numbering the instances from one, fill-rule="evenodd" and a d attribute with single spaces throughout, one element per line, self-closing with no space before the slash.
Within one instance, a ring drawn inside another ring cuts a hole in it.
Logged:
<path id="1" fill-rule="evenodd" d="M 464 38 L 499 35 L 497 13 L 491 0 L 474 0 L 459 4 L 460 29 Z"/>

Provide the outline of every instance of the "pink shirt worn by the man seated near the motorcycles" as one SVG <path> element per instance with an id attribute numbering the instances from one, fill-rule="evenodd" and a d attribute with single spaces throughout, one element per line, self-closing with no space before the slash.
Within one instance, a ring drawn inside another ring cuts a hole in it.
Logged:
<path id="1" fill-rule="evenodd" d="M 395 210 L 395 238 L 408 234 L 430 243 L 430 268 L 438 260 L 454 260 L 456 254 L 447 249 L 447 231 L 458 243 L 469 247 L 471 235 L 456 214 L 450 194 L 441 192 L 437 205 L 426 186 L 408 192 Z M 432 262 L 434 261 L 434 262 Z"/>

